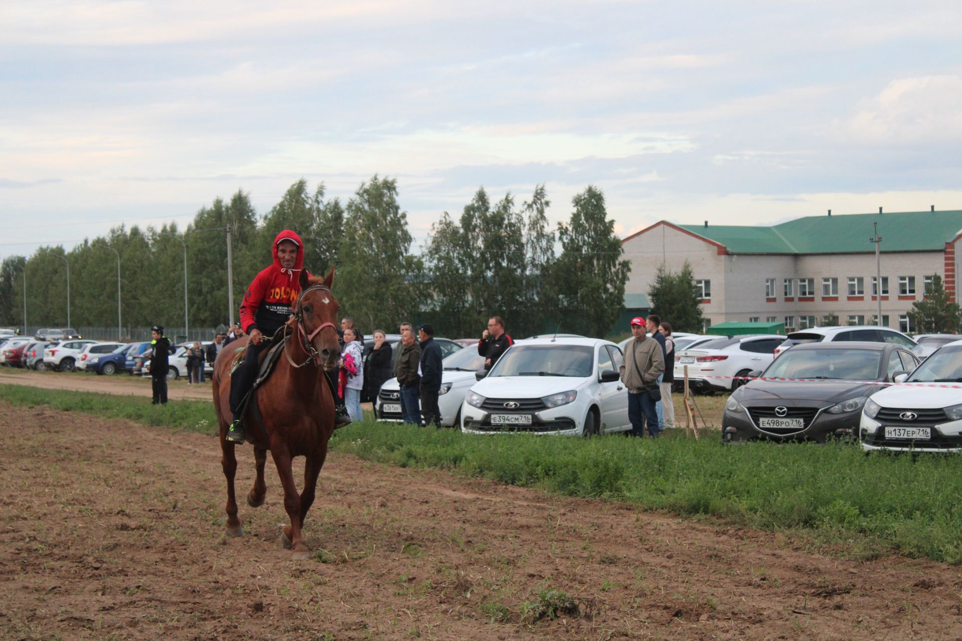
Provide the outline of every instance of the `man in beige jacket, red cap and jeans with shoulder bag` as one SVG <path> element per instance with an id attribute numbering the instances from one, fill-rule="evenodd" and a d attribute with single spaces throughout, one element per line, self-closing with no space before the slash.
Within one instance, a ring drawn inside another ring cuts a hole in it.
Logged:
<path id="1" fill-rule="evenodd" d="M 665 356 L 661 344 L 645 335 L 644 318 L 631 319 L 631 335 L 634 340 L 624 346 L 624 362 L 620 367 L 621 382 L 628 388 L 628 420 L 631 421 L 631 435 L 644 436 L 645 424 L 648 435 L 658 436 L 658 415 L 655 401 L 648 388 L 658 388 L 658 377 L 665 371 Z"/>

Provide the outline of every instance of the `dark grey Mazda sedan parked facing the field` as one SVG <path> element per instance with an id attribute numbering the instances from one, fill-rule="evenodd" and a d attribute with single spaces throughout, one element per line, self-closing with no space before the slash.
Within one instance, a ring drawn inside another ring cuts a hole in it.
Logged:
<path id="1" fill-rule="evenodd" d="M 884 388 L 871 383 L 893 382 L 918 364 L 918 357 L 896 343 L 796 345 L 775 358 L 760 378 L 728 397 L 722 441 L 824 443 L 829 437 L 854 436 L 865 402 Z"/>

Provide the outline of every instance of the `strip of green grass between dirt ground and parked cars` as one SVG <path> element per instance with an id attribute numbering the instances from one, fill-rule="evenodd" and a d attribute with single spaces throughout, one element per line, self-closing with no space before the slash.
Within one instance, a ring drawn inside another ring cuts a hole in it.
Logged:
<path id="1" fill-rule="evenodd" d="M 215 433 L 209 403 L 156 407 L 147 399 L 16 385 L 0 385 L 0 398 L 19 406 Z M 698 397 L 696 402 L 706 419 L 710 411 L 717 421 L 723 399 Z M 726 447 L 718 431 L 701 434 L 697 441 L 684 430 L 669 431 L 656 441 L 477 437 L 366 421 L 335 432 L 331 447 L 368 460 L 443 468 L 564 495 L 790 532 L 796 540 L 828 545 L 839 554 L 899 552 L 962 562 L 958 456 L 865 456 L 843 444 Z"/>

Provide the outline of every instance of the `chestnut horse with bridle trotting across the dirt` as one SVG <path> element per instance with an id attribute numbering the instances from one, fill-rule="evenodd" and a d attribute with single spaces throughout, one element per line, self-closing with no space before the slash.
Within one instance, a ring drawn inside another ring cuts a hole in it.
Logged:
<path id="1" fill-rule="evenodd" d="M 267 450 L 274 457 L 277 473 L 284 486 L 284 508 L 291 517 L 285 526 L 281 542 L 292 549 L 294 559 L 309 556 L 304 544 L 302 528 L 304 516 L 314 503 L 317 475 L 327 456 L 327 441 L 334 431 L 334 397 L 324 380 L 323 370 L 337 366 L 341 347 L 334 322 L 340 305 L 331 293 L 334 268 L 327 278 L 309 277 L 300 273 L 301 294 L 292 306 L 293 316 L 284 326 L 288 337 L 285 355 L 280 357 L 273 373 L 256 391 L 257 404 L 264 418 L 264 428 L 254 417 L 250 407 L 243 416 L 245 438 L 254 446 L 257 479 L 247 494 L 247 505 L 264 505 L 267 486 L 264 465 Z M 233 416 L 230 410 L 230 368 L 235 348 L 246 344 L 247 337 L 230 343 L 217 355 L 214 365 L 214 407 L 220 424 L 220 464 L 227 478 L 228 536 L 241 536 L 243 528 L 238 520 L 238 505 L 234 498 L 234 474 L 237 458 L 234 443 L 227 440 L 227 428 Z M 266 354 L 266 352 L 265 352 Z M 298 495 L 291 472 L 291 458 L 304 456 L 304 490 Z"/>

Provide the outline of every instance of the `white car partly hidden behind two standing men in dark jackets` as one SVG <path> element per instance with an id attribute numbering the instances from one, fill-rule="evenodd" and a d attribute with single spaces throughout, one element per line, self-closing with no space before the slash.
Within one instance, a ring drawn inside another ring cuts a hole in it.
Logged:
<path id="1" fill-rule="evenodd" d="M 477 347 L 458 350 L 443 359 L 444 372 L 441 378 L 441 390 L 438 396 L 438 408 L 441 409 L 441 423 L 444 426 L 460 426 L 461 405 L 471 385 L 477 382 L 474 375 L 484 369 L 484 357 L 480 356 Z M 374 416 L 379 421 L 399 423 L 401 417 L 401 388 L 397 379 L 381 385 L 381 392 L 374 401 Z"/>

